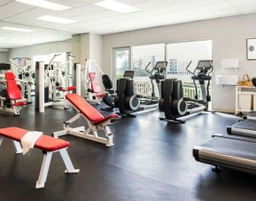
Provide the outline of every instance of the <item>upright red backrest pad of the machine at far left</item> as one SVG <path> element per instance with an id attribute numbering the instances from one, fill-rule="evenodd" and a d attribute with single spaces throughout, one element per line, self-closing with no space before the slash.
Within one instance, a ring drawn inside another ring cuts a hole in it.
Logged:
<path id="1" fill-rule="evenodd" d="M 7 98 L 11 100 L 18 100 L 22 98 L 21 91 L 15 81 L 13 73 L 5 73 L 5 79 L 7 84 Z"/>

